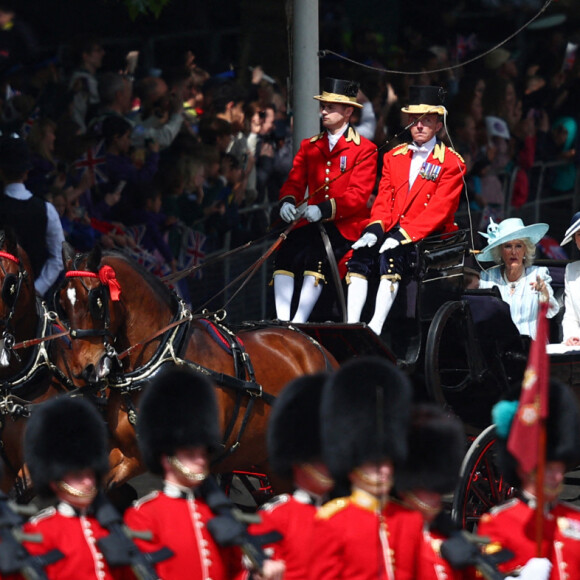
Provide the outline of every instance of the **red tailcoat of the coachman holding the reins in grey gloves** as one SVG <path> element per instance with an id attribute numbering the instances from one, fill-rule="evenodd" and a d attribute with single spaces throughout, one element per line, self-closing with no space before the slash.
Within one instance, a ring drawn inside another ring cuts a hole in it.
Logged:
<path id="1" fill-rule="evenodd" d="M 373 153 L 376 149 L 352 127 L 332 151 L 326 131 L 304 139 L 280 190 L 280 202 L 292 199 L 298 205 L 305 199 L 308 188 L 308 203 L 321 206 L 322 220 L 334 222 L 347 240 L 357 240 L 369 217 L 367 202 L 377 174 L 377 154 Z M 301 220 L 298 225 L 307 223 Z"/>

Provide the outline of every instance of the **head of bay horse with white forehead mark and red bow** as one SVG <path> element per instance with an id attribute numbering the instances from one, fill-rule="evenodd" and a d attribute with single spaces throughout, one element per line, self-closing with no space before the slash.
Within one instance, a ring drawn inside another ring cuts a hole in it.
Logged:
<path id="1" fill-rule="evenodd" d="M 63 263 L 65 279 L 56 306 L 70 330 L 67 364 L 73 379 L 97 383 L 118 364 L 116 336 L 124 319 L 121 286 L 98 247 L 89 254 L 74 255 L 64 244 Z"/>

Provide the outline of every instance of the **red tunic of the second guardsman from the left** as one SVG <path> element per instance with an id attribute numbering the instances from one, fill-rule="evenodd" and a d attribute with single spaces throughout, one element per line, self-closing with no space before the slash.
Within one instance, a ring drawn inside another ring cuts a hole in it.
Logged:
<path id="1" fill-rule="evenodd" d="M 156 565 L 163 580 L 241 578 L 241 552 L 215 543 L 206 528 L 212 517 L 209 507 L 193 493 L 182 497 L 177 488 L 166 486 L 165 492 L 153 492 L 127 510 L 125 523 L 133 530 L 152 532 L 151 542 L 135 540 L 144 552 L 163 546 L 173 551 L 171 558 Z"/>

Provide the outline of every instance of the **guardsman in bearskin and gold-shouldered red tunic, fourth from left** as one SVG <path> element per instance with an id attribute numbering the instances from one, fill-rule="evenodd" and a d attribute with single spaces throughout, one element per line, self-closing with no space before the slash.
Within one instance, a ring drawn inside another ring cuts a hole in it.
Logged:
<path id="1" fill-rule="evenodd" d="M 349 361 L 325 384 L 323 456 L 351 494 L 316 515 L 311 580 L 421 578 L 423 518 L 389 501 L 395 466 L 407 456 L 410 405 L 409 379 L 383 359 Z"/>

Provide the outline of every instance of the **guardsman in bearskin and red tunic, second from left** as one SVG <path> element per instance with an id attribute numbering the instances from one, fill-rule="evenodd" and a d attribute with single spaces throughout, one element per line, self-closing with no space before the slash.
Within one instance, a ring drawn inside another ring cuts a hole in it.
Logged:
<path id="1" fill-rule="evenodd" d="M 217 401 L 207 378 L 183 367 L 155 378 L 141 399 L 137 439 L 147 467 L 163 476 L 164 487 L 139 500 L 125 521 L 132 529 L 152 532 L 152 542 L 137 541 L 144 551 L 167 546 L 174 553 L 157 564 L 163 580 L 247 576 L 240 549 L 218 545 L 208 529 L 215 514 L 202 486 L 219 438 Z M 279 580 L 283 570 L 281 562 L 267 560 L 263 578 Z"/>

